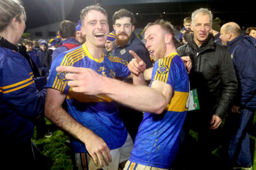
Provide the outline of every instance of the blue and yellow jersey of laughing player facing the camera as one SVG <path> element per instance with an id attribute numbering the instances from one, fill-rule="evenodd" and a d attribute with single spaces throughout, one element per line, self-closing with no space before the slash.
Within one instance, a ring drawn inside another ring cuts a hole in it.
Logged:
<path id="1" fill-rule="evenodd" d="M 91 68 L 108 78 L 116 78 L 116 76 L 126 78 L 130 75 L 127 65 L 127 61 L 104 53 L 101 59 L 95 59 L 83 44 L 61 53 L 54 59 L 46 85 L 48 88 L 54 88 L 66 94 L 69 114 L 80 124 L 93 130 L 110 149 L 121 147 L 127 138 L 127 131 L 119 117 L 115 101 L 104 94 L 91 96 L 73 92 L 72 87 L 67 85 L 66 72 L 56 72 L 56 67 Z M 86 152 L 82 142 L 72 141 L 72 144 L 75 152 Z"/>

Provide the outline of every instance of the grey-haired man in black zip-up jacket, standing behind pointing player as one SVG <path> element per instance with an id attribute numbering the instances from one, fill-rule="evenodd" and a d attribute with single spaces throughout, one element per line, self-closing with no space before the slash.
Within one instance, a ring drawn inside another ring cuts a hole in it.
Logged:
<path id="1" fill-rule="evenodd" d="M 213 164 L 211 152 L 217 139 L 221 139 L 217 128 L 230 110 L 237 79 L 228 50 L 216 44 L 210 33 L 212 13 L 201 8 L 194 11 L 191 18 L 193 33 L 187 37 L 188 43 L 178 48 L 177 52 L 180 56 L 191 58 L 190 89 L 197 89 L 200 109 L 188 112 L 183 130 L 188 135 L 192 125 L 196 125 L 199 142 L 197 160 L 201 168 L 210 169 L 209 165 Z M 186 135 L 183 138 L 185 143 Z"/>

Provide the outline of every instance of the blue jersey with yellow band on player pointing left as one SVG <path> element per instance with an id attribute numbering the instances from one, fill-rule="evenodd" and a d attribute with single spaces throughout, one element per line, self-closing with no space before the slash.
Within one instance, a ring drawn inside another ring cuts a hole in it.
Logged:
<path id="1" fill-rule="evenodd" d="M 130 161 L 168 169 L 178 150 L 179 134 L 186 117 L 189 94 L 188 74 L 177 53 L 156 61 L 151 83 L 153 81 L 171 85 L 173 96 L 160 115 L 144 113 Z"/>

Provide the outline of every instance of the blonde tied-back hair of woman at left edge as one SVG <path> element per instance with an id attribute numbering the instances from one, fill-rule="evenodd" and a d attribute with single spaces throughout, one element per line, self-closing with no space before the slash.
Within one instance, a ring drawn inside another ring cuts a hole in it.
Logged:
<path id="1" fill-rule="evenodd" d="M 0 39 L 1 32 L 6 30 L 13 18 L 17 18 L 21 22 L 20 15 L 24 15 L 26 20 L 26 13 L 21 0 L 0 0 Z"/>

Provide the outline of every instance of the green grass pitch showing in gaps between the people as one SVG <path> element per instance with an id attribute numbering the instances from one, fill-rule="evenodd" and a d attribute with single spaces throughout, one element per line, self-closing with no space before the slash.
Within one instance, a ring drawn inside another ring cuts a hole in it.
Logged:
<path id="1" fill-rule="evenodd" d="M 224 123 L 224 122 L 223 122 Z M 50 163 L 51 170 L 73 170 L 74 165 L 72 163 L 73 152 L 72 150 L 65 145 L 65 140 L 69 140 L 69 137 L 66 133 L 54 126 L 49 120 L 46 119 L 46 124 L 48 129 L 52 131 L 52 137 L 36 139 L 36 128 L 35 134 L 32 140 L 35 142 L 39 150 L 48 158 Z M 256 115 L 254 114 L 254 124 L 256 124 Z M 223 124 L 222 124 L 223 125 Z M 254 144 L 254 159 L 252 169 L 256 170 L 256 132 L 255 127 L 250 133 L 251 144 Z M 190 130 L 190 135 L 197 141 L 197 132 Z M 221 146 L 213 150 L 213 155 L 219 157 L 219 152 L 221 151 Z"/>

